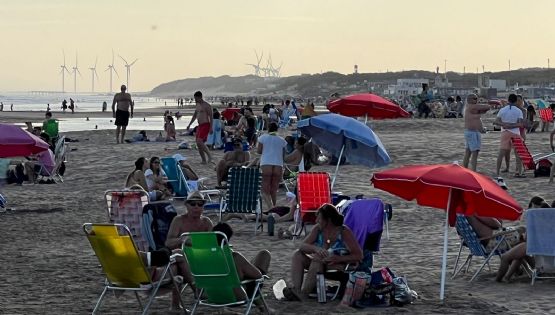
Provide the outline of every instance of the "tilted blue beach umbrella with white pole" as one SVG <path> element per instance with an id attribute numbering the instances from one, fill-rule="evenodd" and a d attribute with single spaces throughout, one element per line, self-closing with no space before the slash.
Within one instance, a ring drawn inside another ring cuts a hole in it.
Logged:
<path id="1" fill-rule="evenodd" d="M 335 156 L 339 155 L 332 188 L 343 156 L 351 164 L 365 165 L 370 168 L 386 166 L 391 162 L 378 135 L 370 127 L 354 118 L 337 114 L 319 115 L 300 120 L 297 128 L 324 150 Z"/>

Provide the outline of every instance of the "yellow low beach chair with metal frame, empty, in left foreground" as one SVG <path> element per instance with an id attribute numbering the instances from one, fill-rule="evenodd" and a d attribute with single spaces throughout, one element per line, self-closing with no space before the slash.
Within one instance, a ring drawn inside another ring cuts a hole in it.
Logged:
<path id="1" fill-rule="evenodd" d="M 125 225 L 85 223 L 83 230 L 106 275 L 104 290 L 96 302 L 93 314 L 100 309 L 108 290 L 135 293 L 142 314 L 148 313 L 161 285 L 173 284 L 174 288 L 180 291 L 170 268 L 170 265 L 175 262 L 175 257 L 179 255 L 173 255 L 170 258 L 170 262 L 163 267 L 160 280 L 154 282 L 133 242 L 131 232 Z M 167 274 L 170 275 L 169 279 L 166 279 Z M 149 294 L 144 307 L 139 292 Z M 179 300 L 181 306 L 185 308 L 181 296 Z"/>

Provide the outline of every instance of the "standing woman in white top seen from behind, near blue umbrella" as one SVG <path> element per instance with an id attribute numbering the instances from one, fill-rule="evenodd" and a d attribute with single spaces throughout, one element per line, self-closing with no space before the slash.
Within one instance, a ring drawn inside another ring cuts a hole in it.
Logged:
<path id="1" fill-rule="evenodd" d="M 283 156 L 287 142 L 277 135 L 278 125 L 275 122 L 268 126 L 268 134 L 258 139 L 257 153 L 260 156 L 262 170 L 262 197 L 268 209 L 275 207 L 279 183 L 283 178 Z"/>

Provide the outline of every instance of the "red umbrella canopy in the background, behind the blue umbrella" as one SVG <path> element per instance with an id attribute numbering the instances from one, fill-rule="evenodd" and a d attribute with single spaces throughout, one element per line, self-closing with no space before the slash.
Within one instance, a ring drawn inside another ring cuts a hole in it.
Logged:
<path id="1" fill-rule="evenodd" d="M 349 117 L 366 116 L 375 119 L 410 117 L 399 105 L 375 94 L 354 94 L 328 104 L 332 113 Z"/>

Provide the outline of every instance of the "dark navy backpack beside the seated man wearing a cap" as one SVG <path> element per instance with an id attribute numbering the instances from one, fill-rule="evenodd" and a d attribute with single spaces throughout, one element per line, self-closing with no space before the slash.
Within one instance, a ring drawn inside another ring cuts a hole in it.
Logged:
<path id="1" fill-rule="evenodd" d="M 177 212 L 169 202 L 149 203 L 143 207 L 143 233 L 152 250 L 165 247 L 166 238 Z"/>

